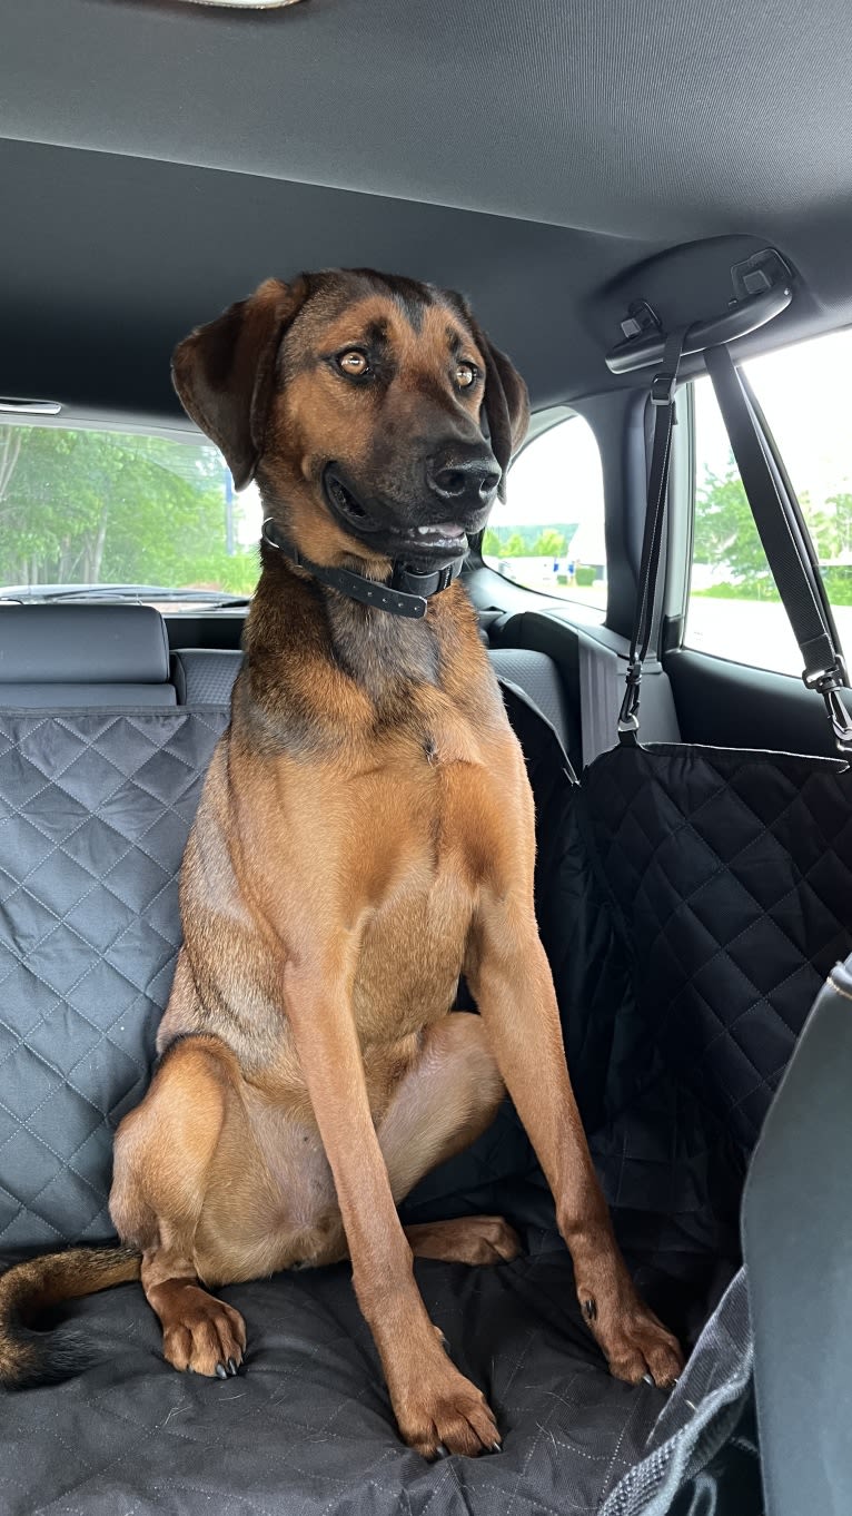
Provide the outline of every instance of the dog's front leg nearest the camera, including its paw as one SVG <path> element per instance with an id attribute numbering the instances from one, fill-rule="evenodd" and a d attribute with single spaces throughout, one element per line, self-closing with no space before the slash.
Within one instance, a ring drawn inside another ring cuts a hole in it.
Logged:
<path id="1" fill-rule="evenodd" d="M 346 972 L 285 967 L 285 1005 L 334 1173 L 355 1293 L 370 1323 L 399 1430 L 434 1457 L 499 1448 L 494 1416 L 447 1358 L 414 1280 L 370 1111 Z"/>

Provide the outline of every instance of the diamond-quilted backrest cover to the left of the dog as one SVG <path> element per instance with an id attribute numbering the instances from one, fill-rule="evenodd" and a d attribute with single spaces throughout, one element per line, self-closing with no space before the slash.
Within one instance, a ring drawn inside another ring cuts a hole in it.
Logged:
<path id="1" fill-rule="evenodd" d="M 0 1236 L 99 1237 L 149 1076 L 176 872 L 226 713 L 0 714 Z M 24 814 L 26 813 L 26 814 Z"/>

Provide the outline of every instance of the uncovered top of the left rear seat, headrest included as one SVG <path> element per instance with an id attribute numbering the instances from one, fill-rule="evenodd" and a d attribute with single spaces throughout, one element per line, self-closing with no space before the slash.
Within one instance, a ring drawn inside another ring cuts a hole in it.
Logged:
<path id="1" fill-rule="evenodd" d="M 0 606 L 0 705 L 176 703 L 165 623 L 153 606 Z"/>

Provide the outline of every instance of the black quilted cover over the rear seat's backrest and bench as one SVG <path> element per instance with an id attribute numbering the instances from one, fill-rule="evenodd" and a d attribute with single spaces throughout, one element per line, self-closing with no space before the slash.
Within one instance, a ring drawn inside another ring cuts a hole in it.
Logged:
<path id="1" fill-rule="evenodd" d="M 641 1287 L 672 1325 L 697 1330 L 735 1261 L 717 1261 L 717 1134 L 647 1052 L 556 737 L 505 693 L 537 799 L 537 904 L 593 1148 Z M 226 720 L 223 708 L 0 713 L 9 1260 L 109 1236 L 111 1135 L 149 1076 L 179 943 L 176 873 Z M 250 1354 L 247 1375 L 221 1384 L 162 1361 L 158 1323 L 126 1286 L 70 1307 L 103 1349 L 96 1367 L 3 1396 L 3 1516 L 591 1516 L 641 1457 L 664 1396 L 611 1380 L 578 1320 L 570 1260 L 509 1107 L 405 1205 L 408 1219 L 471 1210 L 508 1214 L 526 1255 L 417 1270 L 453 1358 L 500 1417 L 500 1457 L 429 1466 L 402 1446 L 347 1267 L 226 1292 Z"/>

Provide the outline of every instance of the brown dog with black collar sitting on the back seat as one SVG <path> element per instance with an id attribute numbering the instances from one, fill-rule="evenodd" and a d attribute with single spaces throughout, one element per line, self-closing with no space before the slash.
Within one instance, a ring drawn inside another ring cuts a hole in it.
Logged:
<path id="1" fill-rule="evenodd" d="M 183 861 L 162 1058 L 115 1140 L 124 1248 L 3 1276 L 0 1373 L 68 1372 L 23 1320 L 138 1276 L 170 1363 L 236 1372 L 243 1320 L 208 1287 L 349 1254 L 405 1440 L 499 1446 L 412 1254 L 493 1263 L 517 1237 L 403 1228 L 396 1204 L 506 1085 L 612 1373 L 670 1384 L 678 1345 L 617 1251 L 569 1081 L 523 758 L 447 587 L 523 440 L 523 382 L 458 296 L 364 271 L 268 280 L 179 346 L 174 382 L 236 485 L 258 478 L 264 567 Z M 479 1016 L 449 1014 L 461 973 Z"/>

